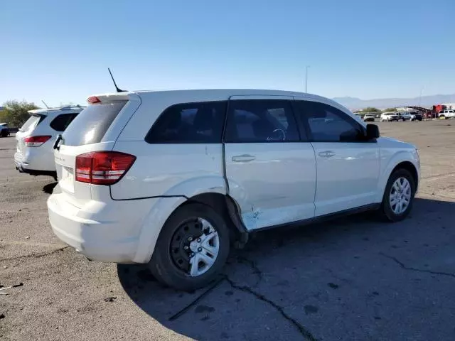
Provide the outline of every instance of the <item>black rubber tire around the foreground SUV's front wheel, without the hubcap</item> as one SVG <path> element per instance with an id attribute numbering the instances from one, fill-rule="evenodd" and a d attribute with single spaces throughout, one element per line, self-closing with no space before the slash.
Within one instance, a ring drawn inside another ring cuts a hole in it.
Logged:
<path id="1" fill-rule="evenodd" d="M 402 212 L 401 214 L 397 214 L 397 213 L 393 212 L 392 207 L 390 207 L 390 200 L 389 200 L 390 193 L 392 190 L 392 185 L 395 183 L 395 181 L 398 178 L 405 178 L 406 180 L 409 181 L 409 183 L 411 185 L 410 203 L 407 206 L 406 210 L 404 212 Z M 414 195 L 415 195 L 415 181 L 414 181 L 414 178 L 412 177 L 412 174 L 404 168 L 397 169 L 390 175 L 390 178 L 387 181 L 387 185 L 385 186 L 384 195 L 382 196 L 382 204 L 381 204 L 381 207 L 379 210 L 380 216 L 390 222 L 400 222 L 401 220 L 404 220 L 412 210 L 412 203 L 414 202 Z"/>

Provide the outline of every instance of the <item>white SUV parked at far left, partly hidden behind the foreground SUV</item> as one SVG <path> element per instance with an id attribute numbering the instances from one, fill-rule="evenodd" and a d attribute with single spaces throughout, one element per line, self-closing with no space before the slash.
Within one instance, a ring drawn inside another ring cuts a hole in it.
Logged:
<path id="1" fill-rule="evenodd" d="M 54 141 L 84 108 L 30 110 L 30 118 L 16 133 L 16 169 L 21 173 L 55 177 Z"/>

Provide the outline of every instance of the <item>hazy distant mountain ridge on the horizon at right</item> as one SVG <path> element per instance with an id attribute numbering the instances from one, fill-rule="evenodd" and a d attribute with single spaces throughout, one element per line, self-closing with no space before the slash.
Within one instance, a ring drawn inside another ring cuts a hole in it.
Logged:
<path id="1" fill-rule="evenodd" d="M 434 94 L 432 96 L 422 96 L 414 98 L 378 98 L 378 99 L 360 99 L 355 97 L 336 97 L 334 101 L 348 107 L 351 110 L 363 109 L 366 107 L 376 107 L 378 109 L 385 109 L 390 107 L 405 107 L 410 105 L 416 107 L 432 107 L 435 104 L 441 103 L 454 103 L 455 94 Z"/>

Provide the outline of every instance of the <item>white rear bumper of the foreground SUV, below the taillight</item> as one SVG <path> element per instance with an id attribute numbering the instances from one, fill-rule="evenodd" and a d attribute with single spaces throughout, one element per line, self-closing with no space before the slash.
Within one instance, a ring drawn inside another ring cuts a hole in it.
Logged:
<path id="1" fill-rule="evenodd" d="M 59 239 L 95 261 L 135 261 L 144 217 L 156 199 L 111 200 L 108 204 L 90 200 L 79 208 L 65 200 L 65 195 L 48 198 L 50 226 Z"/>

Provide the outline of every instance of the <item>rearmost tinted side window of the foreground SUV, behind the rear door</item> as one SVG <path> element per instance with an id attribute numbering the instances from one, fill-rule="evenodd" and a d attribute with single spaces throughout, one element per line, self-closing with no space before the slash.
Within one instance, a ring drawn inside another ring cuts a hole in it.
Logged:
<path id="1" fill-rule="evenodd" d="M 146 135 L 149 144 L 220 144 L 226 102 L 198 102 L 168 107 Z"/>

